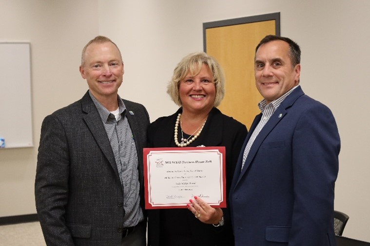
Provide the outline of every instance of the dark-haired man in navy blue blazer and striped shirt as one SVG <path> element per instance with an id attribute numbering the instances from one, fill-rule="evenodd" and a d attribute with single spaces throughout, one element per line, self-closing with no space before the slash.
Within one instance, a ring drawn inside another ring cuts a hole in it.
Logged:
<path id="1" fill-rule="evenodd" d="M 331 110 L 304 94 L 300 49 L 266 36 L 256 47 L 261 114 L 240 153 L 229 202 L 235 246 L 332 246 L 340 139 Z"/>

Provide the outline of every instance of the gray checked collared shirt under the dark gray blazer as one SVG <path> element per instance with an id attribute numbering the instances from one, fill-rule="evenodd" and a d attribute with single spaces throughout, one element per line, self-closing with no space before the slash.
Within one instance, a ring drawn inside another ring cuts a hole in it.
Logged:
<path id="1" fill-rule="evenodd" d="M 89 94 L 100 114 L 116 159 L 123 189 L 124 201 L 122 202 L 125 210 L 123 227 L 136 226 L 143 220 L 144 216 L 140 207 L 136 144 L 126 117 L 126 106 L 118 95 L 119 115 L 116 120 L 116 117 L 101 105 L 90 91 Z"/>

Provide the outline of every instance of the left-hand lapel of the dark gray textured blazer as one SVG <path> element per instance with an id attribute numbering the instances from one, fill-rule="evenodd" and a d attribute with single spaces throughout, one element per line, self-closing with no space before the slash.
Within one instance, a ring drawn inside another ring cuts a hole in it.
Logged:
<path id="1" fill-rule="evenodd" d="M 97 108 L 94 102 L 91 100 L 88 92 L 81 99 L 81 106 L 82 111 L 84 112 L 84 115 L 82 116 L 83 120 L 91 131 L 91 134 L 94 136 L 97 145 L 103 152 L 104 156 L 108 159 L 109 163 L 118 176 L 117 164 L 113 154 L 111 143 L 108 139 L 104 125 L 101 122 L 101 118 L 97 111 Z"/>

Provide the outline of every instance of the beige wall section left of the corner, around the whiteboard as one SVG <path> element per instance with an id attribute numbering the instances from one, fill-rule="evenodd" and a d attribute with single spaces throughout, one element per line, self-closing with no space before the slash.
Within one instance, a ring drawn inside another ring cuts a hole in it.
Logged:
<path id="1" fill-rule="evenodd" d="M 0 150 L 3 217 L 36 212 L 34 181 L 42 120 L 87 90 L 78 71 L 80 53 L 99 32 L 97 0 L 0 0 L 0 6 L 0 42 L 31 43 L 34 141 L 33 148 Z"/>

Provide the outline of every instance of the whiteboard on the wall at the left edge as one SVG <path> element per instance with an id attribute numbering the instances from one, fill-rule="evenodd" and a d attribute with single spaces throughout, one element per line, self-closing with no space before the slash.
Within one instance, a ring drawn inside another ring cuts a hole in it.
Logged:
<path id="1" fill-rule="evenodd" d="M 0 43 L 0 139 L 5 148 L 33 146 L 30 63 L 30 43 Z"/>

